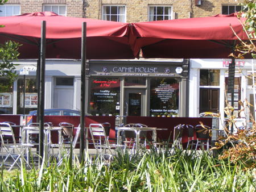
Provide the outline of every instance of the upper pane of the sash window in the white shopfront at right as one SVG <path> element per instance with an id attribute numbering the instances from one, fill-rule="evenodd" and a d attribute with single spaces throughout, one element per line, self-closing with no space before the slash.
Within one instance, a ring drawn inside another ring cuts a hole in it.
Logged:
<path id="1" fill-rule="evenodd" d="M 201 86 L 219 86 L 220 70 L 218 69 L 201 69 L 200 70 Z"/>

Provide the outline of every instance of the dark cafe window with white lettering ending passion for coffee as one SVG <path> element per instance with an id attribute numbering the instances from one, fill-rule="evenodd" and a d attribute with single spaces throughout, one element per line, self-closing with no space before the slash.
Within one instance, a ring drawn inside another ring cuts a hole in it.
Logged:
<path id="1" fill-rule="evenodd" d="M 150 115 L 177 116 L 179 114 L 179 81 L 174 78 L 150 80 Z"/>

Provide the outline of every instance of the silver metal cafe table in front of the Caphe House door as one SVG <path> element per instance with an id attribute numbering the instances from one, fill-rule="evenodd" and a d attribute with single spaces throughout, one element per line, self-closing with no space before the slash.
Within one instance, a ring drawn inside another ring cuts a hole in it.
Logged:
<path id="1" fill-rule="evenodd" d="M 141 131 L 152 131 L 152 140 L 156 141 L 156 127 L 118 127 L 117 128 L 117 144 L 121 144 L 121 131 L 134 131 L 136 138 L 135 138 L 135 147 L 136 152 L 138 152 L 139 147 L 139 134 Z"/>

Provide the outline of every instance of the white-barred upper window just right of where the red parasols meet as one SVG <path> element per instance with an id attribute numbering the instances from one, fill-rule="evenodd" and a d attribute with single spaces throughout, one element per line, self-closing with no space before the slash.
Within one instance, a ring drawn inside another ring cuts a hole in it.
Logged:
<path id="1" fill-rule="evenodd" d="M 170 20 L 172 19 L 171 6 L 149 6 L 148 20 Z"/>

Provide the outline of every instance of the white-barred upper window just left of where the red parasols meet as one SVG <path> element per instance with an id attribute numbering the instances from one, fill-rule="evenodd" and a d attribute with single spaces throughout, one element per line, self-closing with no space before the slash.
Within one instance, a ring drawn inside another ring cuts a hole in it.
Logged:
<path id="1" fill-rule="evenodd" d="M 125 6 L 104 5 L 102 6 L 102 19 L 114 22 L 126 22 Z"/>

